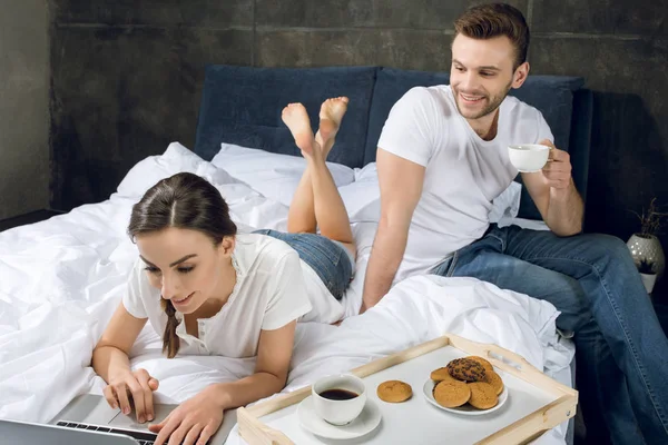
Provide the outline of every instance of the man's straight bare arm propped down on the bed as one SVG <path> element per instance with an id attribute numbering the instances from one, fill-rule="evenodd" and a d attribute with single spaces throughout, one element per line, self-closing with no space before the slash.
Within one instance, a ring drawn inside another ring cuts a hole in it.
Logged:
<path id="1" fill-rule="evenodd" d="M 375 306 L 392 286 L 424 182 L 423 166 L 380 147 L 376 168 L 381 188 L 381 220 L 366 268 L 362 312 Z"/>

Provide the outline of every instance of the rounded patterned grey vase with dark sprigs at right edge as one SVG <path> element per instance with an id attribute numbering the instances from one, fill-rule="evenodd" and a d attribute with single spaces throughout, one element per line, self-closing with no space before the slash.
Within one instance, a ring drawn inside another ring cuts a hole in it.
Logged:
<path id="1" fill-rule="evenodd" d="M 636 214 L 640 219 L 640 231 L 635 233 L 629 238 L 627 246 L 631 251 L 631 257 L 636 261 L 636 266 L 645 259 L 651 265 L 656 279 L 660 279 L 666 267 L 666 257 L 657 234 L 664 225 L 664 218 L 668 212 L 659 211 L 656 205 L 657 198 L 652 198 L 649 208 L 642 209 L 641 214 Z"/>

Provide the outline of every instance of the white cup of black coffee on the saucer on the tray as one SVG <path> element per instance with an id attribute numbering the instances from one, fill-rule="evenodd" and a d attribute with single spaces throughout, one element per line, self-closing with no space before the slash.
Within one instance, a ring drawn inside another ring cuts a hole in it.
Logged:
<path id="1" fill-rule="evenodd" d="M 353 422 L 366 404 L 364 380 L 352 374 L 322 377 L 313 384 L 311 393 L 315 413 L 336 426 Z"/>

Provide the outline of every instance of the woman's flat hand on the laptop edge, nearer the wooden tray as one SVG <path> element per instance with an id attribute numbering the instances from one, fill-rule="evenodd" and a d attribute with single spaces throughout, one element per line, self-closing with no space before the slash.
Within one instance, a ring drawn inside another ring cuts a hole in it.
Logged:
<path id="1" fill-rule="evenodd" d="M 224 406 L 215 385 L 204 388 L 148 429 L 156 433 L 155 445 L 205 445 L 223 423 Z"/>

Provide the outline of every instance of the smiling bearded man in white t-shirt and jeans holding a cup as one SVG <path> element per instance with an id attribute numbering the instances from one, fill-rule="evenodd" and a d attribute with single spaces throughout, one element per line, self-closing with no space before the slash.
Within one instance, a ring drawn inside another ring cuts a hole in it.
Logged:
<path id="1" fill-rule="evenodd" d="M 580 234 L 568 154 L 537 109 L 508 97 L 529 73 L 522 13 L 480 6 L 454 24 L 451 85 L 406 92 L 379 141 L 381 220 L 362 309 L 420 273 L 549 300 L 558 327 L 574 332 L 588 442 L 668 443 L 668 340 L 630 254 L 618 238 Z M 492 199 L 518 174 L 507 147 L 530 142 L 551 147 L 542 171 L 522 174 L 551 230 L 490 225 Z"/>

